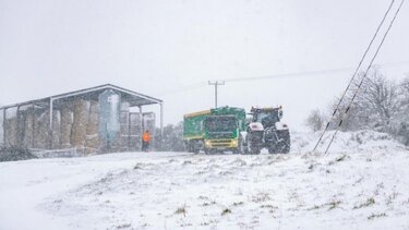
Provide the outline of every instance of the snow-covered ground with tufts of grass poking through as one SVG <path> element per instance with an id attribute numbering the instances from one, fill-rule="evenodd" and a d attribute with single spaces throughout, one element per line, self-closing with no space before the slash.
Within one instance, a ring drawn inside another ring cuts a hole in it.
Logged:
<path id="1" fill-rule="evenodd" d="M 361 131 L 322 156 L 317 135 L 289 155 L 0 162 L 0 229 L 409 229 L 408 149 Z"/>

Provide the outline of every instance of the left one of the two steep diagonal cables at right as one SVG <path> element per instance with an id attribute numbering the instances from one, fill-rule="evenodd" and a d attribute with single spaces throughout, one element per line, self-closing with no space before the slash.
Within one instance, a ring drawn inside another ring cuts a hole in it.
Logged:
<path id="1" fill-rule="evenodd" d="M 339 99 L 338 105 L 337 105 L 337 107 L 335 108 L 335 110 L 334 110 L 334 112 L 333 112 L 333 116 L 329 118 L 329 120 L 328 120 L 328 122 L 327 122 L 327 124 L 326 124 L 326 126 L 325 126 L 323 133 L 321 134 L 318 141 L 316 142 L 316 145 L 315 145 L 313 152 L 318 147 L 321 140 L 323 138 L 324 134 L 325 134 L 326 131 L 328 130 L 329 124 L 330 124 L 330 122 L 333 121 L 335 114 L 336 114 L 337 111 L 339 110 L 339 106 L 341 105 L 341 102 L 342 102 L 345 96 L 347 95 L 347 93 L 348 93 L 348 90 L 349 90 L 349 88 L 350 88 L 350 86 L 351 86 L 353 80 L 356 78 L 359 69 L 361 69 L 362 62 L 363 62 L 363 60 L 366 58 L 366 55 L 368 55 L 369 50 L 371 49 L 371 46 L 372 46 L 373 41 L 375 40 L 375 38 L 376 38 L 376 36 L 377 36 L 377 34 L 378 34 L 381 27 L 383 26 L 383 24 L 384 24 L 384 22 L 385 22 L 385 19 L 386 19 L 387 15 L 389 14 L 389 11 L 390 11 L 392 7 L 394 5 L 394 3 L 395 3 L 395 0 L 392 0 L 392 2 L 390 2 L 390 4 L 389 4 L 388 9 L 386 10 L 386 12 L 385 12 L 385 14 L 384 14 L 384 17 L 383 17 L 382 21 L 381 21 L 381 24 L 377 26 L 375 34 L 373 35 L 373 37 L 372 37 L 372 39 L 371 39 L 369 46 L 366 47 L 366 50 L 364 51 L 364 53 L 363 53 L 361 60 L 359 61 L 359 64 L 358 64 L 356 71 L 353 72 L 352 77 L 351 77 L 351 80 L 349 81 L 347 88 L 345 89 L 345 92 L 344 92 L 341 98 Z"/>

